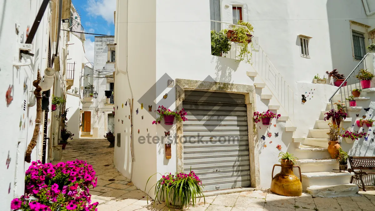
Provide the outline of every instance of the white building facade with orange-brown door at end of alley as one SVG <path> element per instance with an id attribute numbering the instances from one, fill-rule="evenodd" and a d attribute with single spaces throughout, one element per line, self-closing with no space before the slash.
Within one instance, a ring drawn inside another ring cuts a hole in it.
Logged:
<path id="1" fill-rule="evenodd" d="M 103 138 L 114 132 L 114 65 L 114 36 L 95 36 L 94 65 L 85 68 L 83 77 L 81 137 Z"/>

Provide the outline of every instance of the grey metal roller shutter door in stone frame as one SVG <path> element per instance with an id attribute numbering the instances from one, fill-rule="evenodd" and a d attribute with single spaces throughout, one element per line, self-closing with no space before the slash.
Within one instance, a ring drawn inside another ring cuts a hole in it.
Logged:
<path id="1" fill-rule="evenodd" d="M 183 108 L 184 172 L 191 168 L 204 191 L 249 187 L 245 95 L 186 90 Z"/>

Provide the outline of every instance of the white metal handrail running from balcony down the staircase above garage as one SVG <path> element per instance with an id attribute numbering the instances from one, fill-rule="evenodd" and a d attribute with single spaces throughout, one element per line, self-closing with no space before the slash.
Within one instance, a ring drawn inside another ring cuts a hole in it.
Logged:
<path id="1" fill-rule="evenodd" d="M 238 24 L 231 24 L 231 23 L 225 23 L 221 21 L 214 21 L 211 20 L 211 23 L 215 22 L 214 24 L 214 30 L 217 31 L 217 24 L 220 24 L 220 30 L 222 29 L 233 29 L 234 27 L 243 27 L 248 30 L 249 34 L 253 34 L 250 32 L 248 27 L 243 26 L 243 25 L 238 25 Z M 288 113 L 290 121 L 292 124 L 294 124 L 294 92 L 293 89 L 286 83 L 284 77 L 276 70 L 275 66 L 272 64 L 270 61 L 269 57 L 267 56 L 266 53 L 264 53 L 263 48 L 259 45 L 259 43 L 253 39 L 252 42 L 255 42 L 257 44 L 257 50 L 254 48 L 253 43 L 251 43 L 252 46 L 252 55 L 251 55 L 251 65 L 255 69 L 255 71 L 258 72 L 260 75 L 261 80 L 263 83 L 267 84 L 273 95 L 275 96 L 276 100 L 278 103 L 281 105 L 281 107 L 284 108 L 284 110 Z M 237 54 L 237 43 L 234 45 L 235 48 L 235 53 Z M 261 52 L 261 53 L 260 53 Z M 262 56 L 260 56 L 260 54 Z M 257 59 L 258 55 L 258 59 Z M 226 55 L 224 55 L 226 56 Z M 236 58 L 237 55 L 234 55 L 234 58 Z M 232 58 L 232 50 L 229 53 L 229 57 Z M 275 84 L 272 84 L 270 81 L 270 68 L 267 68 L 266 66 L 263 66 L 265 63 L 266 65 L 269 65 L 269 67 L 272 69 L 272 74 L 275 75 L 275 79 L 277 79 Z M 284 88 L 284 89 L 283 89 Z M 287 90 L 287 94 L 285 93 L 285 89 Z M 291 96 L 291 100 L 290 100 Z M 286 99 L 287 98 L 287 99 Z M 287 102 L 288 101 L 288 102 Z"/>

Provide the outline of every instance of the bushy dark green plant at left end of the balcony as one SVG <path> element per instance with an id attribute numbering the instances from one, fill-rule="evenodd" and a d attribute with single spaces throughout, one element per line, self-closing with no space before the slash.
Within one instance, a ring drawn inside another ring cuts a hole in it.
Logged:
<path id="1" fill-rule="evenodd" d="M 228 53 L 229 50 L 231 50 L 231 42 L 224 30 L 220 30 L 220 32 L 211 30 L 211 54 L 222 56 L 223 53 Z"/>

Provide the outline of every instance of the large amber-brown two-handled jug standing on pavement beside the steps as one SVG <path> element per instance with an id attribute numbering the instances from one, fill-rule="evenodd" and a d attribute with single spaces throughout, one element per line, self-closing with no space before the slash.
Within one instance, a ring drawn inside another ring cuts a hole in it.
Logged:
<path id="1" fill-rule="evenodd" d="M 283 164 L 284 163 L 284 164 Z M 281 165 L 275 164 L 272 168 L 272 175 L 275 166 L 281 166 L 281 172 L 272 178 L 271 191 L 282 196 L 301 196 L 302 195 L 302 176 L 299 166 L 285 165 L 289 161 L 281 161 Z M 293 167 L 299 168 L 300 179 L 294 175 Z"/>

